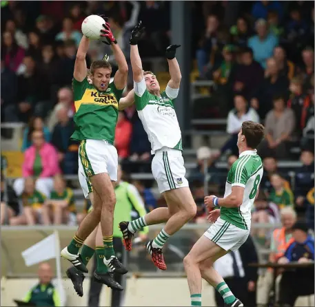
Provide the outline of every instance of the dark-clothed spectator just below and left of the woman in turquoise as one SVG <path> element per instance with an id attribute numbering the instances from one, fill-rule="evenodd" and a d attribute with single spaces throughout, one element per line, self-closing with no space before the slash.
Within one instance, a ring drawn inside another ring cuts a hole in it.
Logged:
<path id="1" fill-rule="evenodd" d="M 250 100 L 263 82 L 263 68 L 254 61 L 252 49 L 246 47 L 241 52 L 241 65 L 237 65 L 234 74 L 234 94 L 241 94 Z"/>

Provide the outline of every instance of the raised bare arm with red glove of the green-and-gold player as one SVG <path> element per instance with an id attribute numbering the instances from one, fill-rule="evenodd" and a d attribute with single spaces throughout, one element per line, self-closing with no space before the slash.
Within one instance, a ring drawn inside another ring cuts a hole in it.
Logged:
<path id="1" fill-rule="evenodd" d="M 117 89 L 124 89 L 127 85 L 127 76 L 128 76 L 128 65 L 125 60 L 125 55 L 121 51 L 114 35 L 112 34 L 112 30 L 110 30 L 110 24 L 105 23 L 103 25 L 104 30 L 101 30 L 103 34 L 101 36 L 105 36 L 108 38 L 108 41 L 103 41 L 103 43 L 108 44 L 112 47 L 112 52 L 114 53 L 114 58 L 118 65 L 118 70 L 114 76 L 114 85 Z"/>

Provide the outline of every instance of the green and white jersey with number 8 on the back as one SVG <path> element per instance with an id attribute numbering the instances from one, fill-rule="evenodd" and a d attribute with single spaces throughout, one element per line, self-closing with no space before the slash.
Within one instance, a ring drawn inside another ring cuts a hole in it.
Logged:
<path id="1" fill-rule="evenodd" d="M 222 220 L 241 229 L 250 229 L 252 206 L 262 177 L 263 163 L 256 150 L 243 151 L 227 174 L 224 194 L 224 197 L 230 195 L 234 186 L 243 187 L 243 202 L 238 208 L 221 207 Z"/>

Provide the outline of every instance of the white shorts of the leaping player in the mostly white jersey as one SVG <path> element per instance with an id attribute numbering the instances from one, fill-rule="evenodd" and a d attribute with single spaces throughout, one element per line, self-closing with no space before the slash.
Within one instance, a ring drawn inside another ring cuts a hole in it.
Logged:
<path id="1" fill-rule="evenodd" d="M 156 151 L 152 160 L 152 174 L 160 193 L 189 187 L 185 178 L 186 169 L 180 150 L 163 147 Z"/>

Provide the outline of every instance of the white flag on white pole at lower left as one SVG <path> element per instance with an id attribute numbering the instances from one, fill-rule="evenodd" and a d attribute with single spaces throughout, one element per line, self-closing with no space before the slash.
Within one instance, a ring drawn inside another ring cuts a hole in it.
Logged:
<path id="1" fill-rule="evenodd" d="M 22 257 L 26 266 L 32 266 L 34 264 L 56 258 L 57 282 L 52 282 L 52 284 L 57 286 L 61 299 L 61 306 L 65 306 L 65 291 L 63 289 L 61 279 L 60 243 L 58 231 L 54 231 L 52 235 L 48 235 L 45 239 L 23 251 Z"/>

